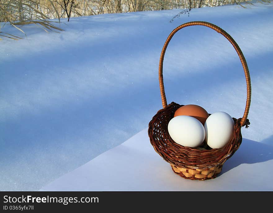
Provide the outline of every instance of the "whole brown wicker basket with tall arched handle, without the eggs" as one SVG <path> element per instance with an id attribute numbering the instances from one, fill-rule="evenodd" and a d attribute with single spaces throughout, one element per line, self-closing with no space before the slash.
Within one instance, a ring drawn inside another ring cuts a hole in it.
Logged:
<path id="1" fill-rule="evenodd" d="M 183 106 L 172 102 L 167 105 L 167 100 L 163 85 L 163 59 L 168 43 L 173 35 L 180 29 L 193 26 L 202 25 L 221 33 L 235 48 L 239 55 L 241 63 L 244 68 L 244 73 L 247 83 L 247 100 L 244 115 L 242 118 L 233 118 L 234 120 L 234 134 L 231 140 L 221 149 L 199 149 L 182 146 L 175 143 L 168 133 L 168 123 L 174 117 L 175 111 Z M 168 163 L 171 164 L 172 170 L 183 178 L 191 180 L 208 180 L 217 177 L 222 171 L 222 166 L 228 158 L 230 158 L 239 148 L 242 142 L 241 127 L 248 127 L 249 121 L 247 119 L 250 100 L 251 100 L 251 84 L 248 66 L 242 51 L 234 39 L 220 27 L 203 21 L 188 22 L 178 26 L 168 36 L 159 60 L 159 86 L 162 98 L 163 109 L 160 109 L 149 123 L 148 135 L 150 143 L 154 150 Z"/>

